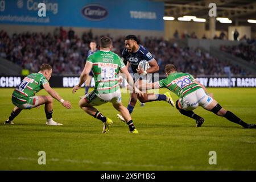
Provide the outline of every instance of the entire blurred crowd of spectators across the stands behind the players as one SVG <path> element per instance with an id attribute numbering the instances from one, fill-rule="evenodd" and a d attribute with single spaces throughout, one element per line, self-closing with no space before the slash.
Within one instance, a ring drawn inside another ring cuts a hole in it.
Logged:
<path id="1" fill-rule="evenodd" d="M 84 68 L 90 41 L 99 42 L 100 37 L 93 36 L 93 32 L 88 31 L 79 38 L 72 28 L 66 31 L 61 27 L 56 28 L 52 34 L 24 32 L 9 36 L 5 31 L 0 31 L 0 56 L 31 72 L 38 71 L 40 64 L 48 63 L 57 75 L 80 74 Z M 160 74 L 164 74 L 166 64 L 175 64 L 179 71 L 196 76 L 225 75 L 226 66 L 230 66 L 233 75 L 250 74 L 225 60 L 218 60 L 217 57 L 209 55 L 209 52 L 199 48 L 179 47 L 177 43 L 163 38 L 146 37 L 141 44 L 158 61 Z M 112 51 L 121 56 L 124 47 L 124 37 L 113 39 Z"/>

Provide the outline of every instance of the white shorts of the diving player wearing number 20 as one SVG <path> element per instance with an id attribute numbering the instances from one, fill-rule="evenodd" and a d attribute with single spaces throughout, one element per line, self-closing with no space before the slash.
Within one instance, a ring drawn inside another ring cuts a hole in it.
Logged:
<path id="1" fill-rule="evenodd" d="M 210 97 L 204 89 L 197 89 L 195 92 L 189 93 L 187 96 L 180 98 L 179 105 L 184 110 L 194 110 L 198 106 L 207 107 L 213 98 Z"/>

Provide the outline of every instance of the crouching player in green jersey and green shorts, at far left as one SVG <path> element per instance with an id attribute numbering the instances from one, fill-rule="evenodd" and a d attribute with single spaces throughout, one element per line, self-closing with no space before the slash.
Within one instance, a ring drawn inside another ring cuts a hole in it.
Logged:
<path id="1" fill-rule="evenodd" d="M 15 88 L 12 96 L 13 104 L 15 105 L 9 119 L 5 121 L 5 124 L 14 124 L 13 119 L 23 110 L 32 109 L 34 107 L 45 105 L 44 111 L 46 112 L 46 125 L 59 126 L 61 123 L 57 123 L 52 119 L 53 113 L 53 99 L 60 101 L 61 104 L 67 109 L 71 109 L 69 101 L 64 101 L 59 94 L 49 86 L 49 78 L 52 75 L 52 67 L 48 64 L 42 64 L 38 73 L 32 73 L 26 76 L 22 82 Z M 45 89 L 50 96 L 35 96 L 37 92 Z"/>

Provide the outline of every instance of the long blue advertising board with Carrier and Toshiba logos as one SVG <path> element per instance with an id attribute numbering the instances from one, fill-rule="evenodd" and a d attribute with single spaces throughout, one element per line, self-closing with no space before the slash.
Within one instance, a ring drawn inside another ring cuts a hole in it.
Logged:
<path id="1" fill-rule="evenodd" d="M 46 4 L 46 17 L 38 4 Z M 0 23 L 163 31 L 164 3 L 146 0 L 0 0 Z"/>

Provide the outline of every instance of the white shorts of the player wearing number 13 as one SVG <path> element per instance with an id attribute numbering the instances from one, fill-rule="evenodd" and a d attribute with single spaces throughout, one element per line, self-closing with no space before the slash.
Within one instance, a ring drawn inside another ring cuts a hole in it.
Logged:
<path id="1" fill-rule="evenodd" d="M 88 104 L 92 106 L 99 106 L 108 102 L 111 102 L 113 104 L 119 104 L 122 101 L 120 89 L 113 93 L 104 94 L 96 93 L 95 90 L 93 90 L 93 92 L 86 94 L 84 96 L 84 99 L 86 100 L 86 102 L 88 102 Z"/>

